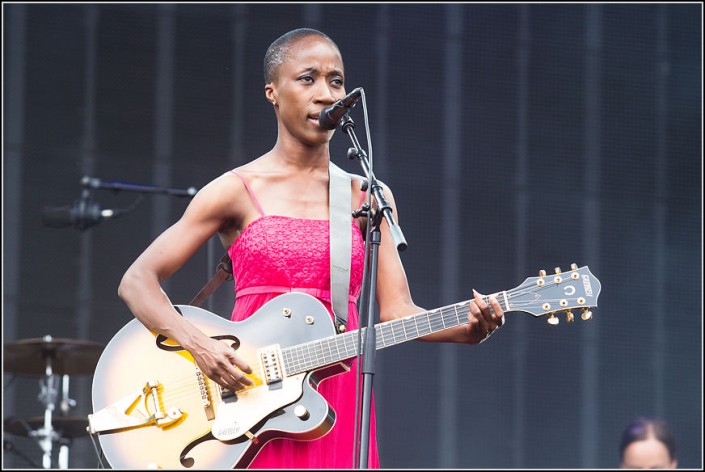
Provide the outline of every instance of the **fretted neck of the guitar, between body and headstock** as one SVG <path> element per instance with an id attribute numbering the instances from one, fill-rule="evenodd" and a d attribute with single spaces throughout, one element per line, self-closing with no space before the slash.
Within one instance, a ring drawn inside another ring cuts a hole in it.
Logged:
<path id="1" fill-rule="evenodd" d="M 505 311 L 509 310 L 506 292 L 484 296 L 485 302 L 488 302 L 490 296 L 496 297 Z M 468 324 L 467 315 L 469 312 L 470 300 L 466 300 L 454 305 L 376 324 L 377 349 Z M 357 356 L 360 352 L 360 338 L 364 339 L 366 331 L 367 328 L 362 328 L 282 349 L 282 358 L 287 374 L 309 372 Z"/>

